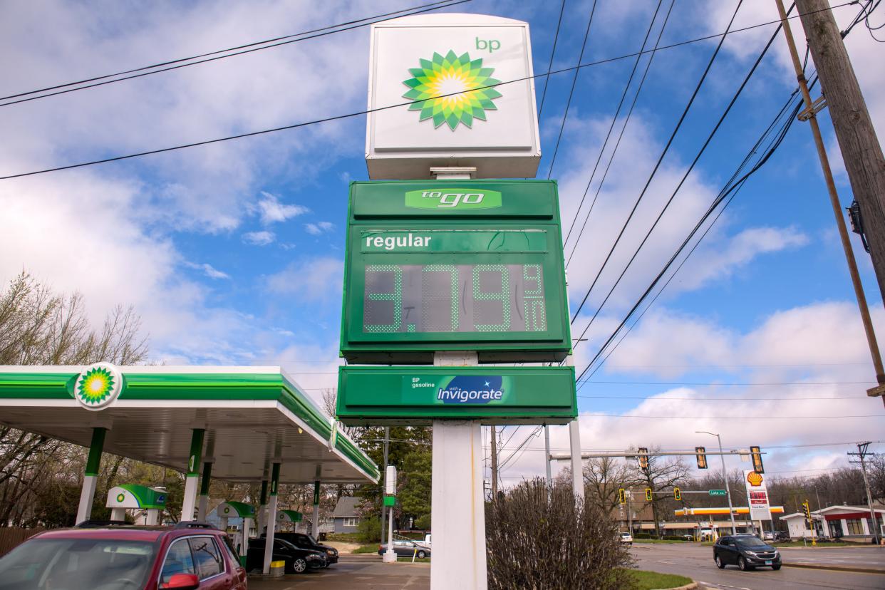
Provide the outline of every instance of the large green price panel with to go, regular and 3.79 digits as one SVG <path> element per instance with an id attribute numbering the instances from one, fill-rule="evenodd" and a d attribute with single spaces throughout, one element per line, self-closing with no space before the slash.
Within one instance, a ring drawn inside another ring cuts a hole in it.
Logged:
<path id="1" fill-rule="evenodd" d="M 570 344 L 556 183 L 350 184 L 342 355 L 558 361 Z"/>

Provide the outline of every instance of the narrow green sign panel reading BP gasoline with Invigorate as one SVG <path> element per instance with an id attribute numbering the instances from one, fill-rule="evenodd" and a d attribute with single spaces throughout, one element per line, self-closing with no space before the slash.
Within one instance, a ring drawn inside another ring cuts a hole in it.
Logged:
<path id="1" fill-rule="evenodd" d="M 573 367 L 344 366 L 337 418 L 345 425 L 566 424 L 577 416 Z"/>

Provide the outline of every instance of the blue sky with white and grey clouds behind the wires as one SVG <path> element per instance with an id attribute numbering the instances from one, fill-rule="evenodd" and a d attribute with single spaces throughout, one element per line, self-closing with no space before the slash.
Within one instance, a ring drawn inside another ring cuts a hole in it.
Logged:
<path id="1" fill-rule="evenodd" d="M 0 22 L 4 92 L 14 94 L 324 27 L 418 3 L 13 3 Z M 598 0 L 584 62 L 632 53 L 658 3 Z M 677 0 L 662 44 L 722 32 L 734 2 Z M 592 2 L 566 2 L 554 69 L 571 67 Z M 652 29 L 658 34 L 663 12 Z M 527 20 L 543 72 L 558 3 L 474 0 L 449 11 Z M 836 9 L 840 23 L 856 6 Z M 883 16 L 879 14 L 879 19 Z M 776 18 L 770 0 L 744 2 L 735 27 Z M 875 18 L 873 19 L 875 20 Z M 793 21 L 794 33 L 801 27 Z M 730 35 L 649 193 L 575 326 L 583 329 L 749 70 L 773 26 Z M 656 54 L 569 266 L 573 307 L 596 274 L 718 39 Z M 798 40 L 800 47 L 804 42 Z M 885 133 L 882 45 L 848 37 L 873 121 Z M 0 175 L 289 125 L 366 105 L 368 29 L 263 50 L 99 88 L 0 108 Z M 639 64 L 643 71 L 647 58 Z M 634 60 L 581 70 L 551 177 L 570 222 Z M 550 77 L 541 119 L 547 176 L 572 73 Z M 577 349 L 579 369 L 601 346 L 795 88 L 782 36 Z M 543 80 L 537 80 L 540 98 Z M 627 94 L 633 99 L 636 83 Z M 830 133 L 844 205 L 850 187 Z M 615 126 L 615 134 L 620 123 Z M 281 364 L 310 392 L 334 387 L 347 185 L 366 179 L 365 119 L 356 117 L 126 162 L 0 181 L 0 278 L 21 269 L 79 290 L 100 320 L 134 305 L 154 360 Z M 603 165 L 609 151 L 604 152 Z M 598 176 L 596 177 L 598 179 Z M 596 190 L 594 180 L 590 195 Z M 581 210 L 581 216 L 586 208 Z M 885 313 L 869 258 L 854 240 L 879 333 Z M 582 412 L 697 419 L 581 418 L 585 448 L 686 448 L 693 431 L 727 446 L 878 440 L 881 401 L 854 399 L 872 368 L 807 124 L 743 188 L 664 295 L 593 380 Z M 604 383 L 622 381 L 629 383 Z M 635 382 L 643 382 L 637 384 Z M 649 382 L 659 383 L 648 385 Z M 780 386 L 683 385 L 789 383 Z M 812 385 L 814 383 L 815 385 Z M 816 385 L 822 383 L 823 385 Z M 600 397 L 605 396 L 605 397 Z M 838 400 L 807 400 L 807 397 Z M 706 399 L 706 398 L 727 399 Z M 782 398 L 782 401 L 746 398 Z M 649 399 L 644 399 L 649 398 Z M 678 398 L 678 399 L 673 399 Z M 740 416 L 806 418 L 735 420 Z M 521 441 L 530 429 L 517 433 Z M 554 447 L 566 445 L 554 429 Z M 537 449 L 540 439 L 530 445 Z M 770 471 L 814 474 L 847 447 L 785 450 Z M 735 464 L 734 467 L 738 467 Z M 543 472 L 536 452 L 509 477 Z"/>

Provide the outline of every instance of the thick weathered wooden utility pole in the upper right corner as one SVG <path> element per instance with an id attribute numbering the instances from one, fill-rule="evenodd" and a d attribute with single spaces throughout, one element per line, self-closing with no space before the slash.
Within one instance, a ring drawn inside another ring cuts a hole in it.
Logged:
<path id="1" fill-rule="evenodd" d="M 885 157 L 827 0 L 796 0 L 885 297 Z M 881 383 L 881 381 L 880 381 Z"/>

